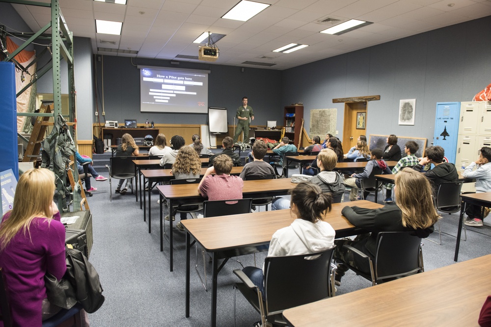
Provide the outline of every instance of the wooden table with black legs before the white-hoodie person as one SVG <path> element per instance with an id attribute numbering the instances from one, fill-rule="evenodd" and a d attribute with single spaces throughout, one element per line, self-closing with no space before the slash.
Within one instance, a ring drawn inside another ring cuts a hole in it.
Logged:
<path id="1" fill-rule="evenodd" d="M 331 211 L 324 215 L 324 220 L 334 228 L 336 237 L 363 232 L 362 229 L 356 228 L 341 215 L 341 210 L 347 205 L 357 205 L 370 209 L 382 207 L 381 204 L 366 200 L 333 203 Z M 258 247 L 269 244 L 274 232 L 289 226 L 295 218 L 291 215 L 289 209 L 284 209 L 183 221 L 182 225 L 186 228 L 186 318 L 190 316 L 191 238 L 195 239 L 205 251 L 212 254 L 211 326 L 216 326 L 217 276 L 224 264 L 222 263 L 218 267 L 218 257 L 221 255 L 229 258 L 237 255 L 238 250 L 241 249 L 245 250 L 246 253 L 266 251 L 265 247 L 259 249 Z M 240 254 L 245 253 L 240 252 Z M 325 323 L 326 317 L 324 319 Z"/>

